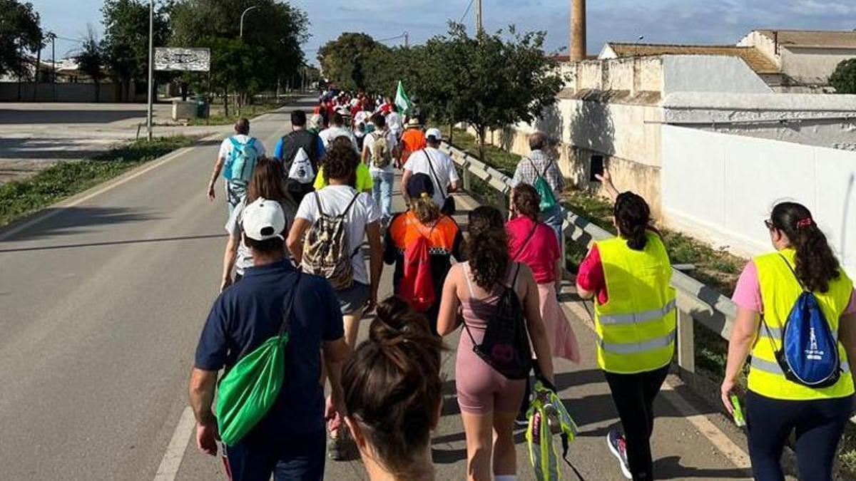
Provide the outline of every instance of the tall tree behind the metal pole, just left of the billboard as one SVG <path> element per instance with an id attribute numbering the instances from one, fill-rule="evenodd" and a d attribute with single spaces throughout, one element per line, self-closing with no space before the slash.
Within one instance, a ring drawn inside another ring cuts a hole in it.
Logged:
<path id="1" fill-rule="evenodd" d="M 168 7 L 155 6 L 154 45 L 166 45 L 170 35 Z M 131 82 L 148 81 L 149 3 L 140 0 L 104 0 L 104 61 L 110 75 L 122 87 L 128 101 L 133 100 Z M 152 86 L 154 88 L 154 86 Z"/>

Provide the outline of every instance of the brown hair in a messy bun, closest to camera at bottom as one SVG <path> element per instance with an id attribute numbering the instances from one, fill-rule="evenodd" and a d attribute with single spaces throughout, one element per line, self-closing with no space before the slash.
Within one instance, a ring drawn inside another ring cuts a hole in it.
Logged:
<path id="1" fill-rule="evenodd" d="M 342 371 L 348 418 L 359 423 L 377 460 L 397 478 L 409 477 L 439 420 L 442 351 L 428 320 L 391 297 L 377 306 L 369 339 Z"/>

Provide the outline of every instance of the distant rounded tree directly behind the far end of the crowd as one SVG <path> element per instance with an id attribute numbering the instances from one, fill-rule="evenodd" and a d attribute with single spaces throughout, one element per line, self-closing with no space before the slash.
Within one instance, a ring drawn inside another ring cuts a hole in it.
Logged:
<path id="1" fill-rule="evenodd" d="M 377 43 L 366 33 L 342 33 L 318 50 L 318 62 L 324 77 L 340 88 L 366 90 L 368 80 L 364 64 L 384 50 L 389 47 Z"/>

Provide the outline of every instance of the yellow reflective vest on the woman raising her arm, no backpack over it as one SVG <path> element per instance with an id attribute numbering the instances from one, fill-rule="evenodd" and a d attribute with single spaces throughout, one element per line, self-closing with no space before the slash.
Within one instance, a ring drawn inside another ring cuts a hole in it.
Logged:
<path id="1" fill-rule="evenodd" d="M 677 310 L 669 286 L 672 266 L 660 236 L 648 233 L 642 251 L 621 238 L 597 242 L 606 292 L 595 301 L 597 363 L 603 371 L 635 374 L 669 365 L 675 353 Z"/>

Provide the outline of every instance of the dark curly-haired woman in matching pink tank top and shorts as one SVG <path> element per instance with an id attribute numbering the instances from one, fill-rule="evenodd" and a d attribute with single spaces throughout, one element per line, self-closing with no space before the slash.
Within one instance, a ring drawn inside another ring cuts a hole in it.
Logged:
<path id="1" fill-rule="evenodd" d="M 455 264 L 443 285 L 437 331 L 447 336 L 458 328 L 459 315 L 480 343 L 496 315 L 504 286 L 513 286 L 526 318 L 526 328 L 544 377 L 553 382 L 550 342 L 541 320 L 538 285 L 532 270 L 511 261 L 502 214 L 479 207 L 469 216 L 469 262 Z M 459 314 L 460 312 L 460 314 Z M 490 479 L 491 454 L 496 481 L 514 481 L 514 417 L 526 380 L 509 380 L 473 353 L 473 340 L 461 335 L 455 363 L 455 387 L 467 436 L 467 479 Z"/>

